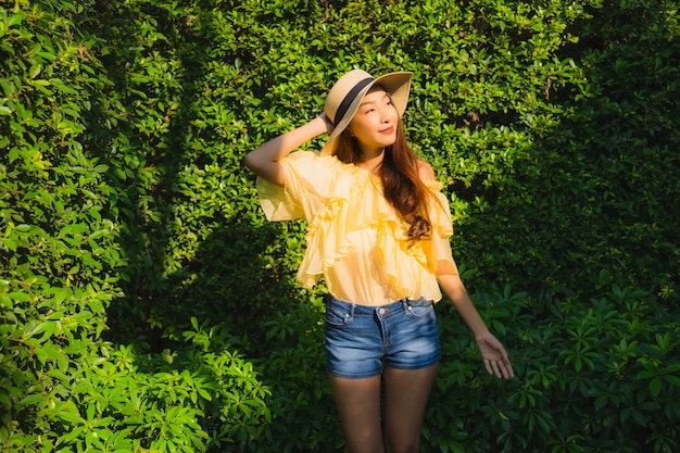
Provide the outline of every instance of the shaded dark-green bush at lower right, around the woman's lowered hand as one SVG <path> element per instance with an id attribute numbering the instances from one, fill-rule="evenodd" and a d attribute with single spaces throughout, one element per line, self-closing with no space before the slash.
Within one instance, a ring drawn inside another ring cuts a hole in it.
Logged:
<path id="1" fill-rule="evenodd" d="M 446 309 L 426 429 L 437 451 L 678 448 L 678 323 L 647 293 L 614 286 L 590 301 L 537 300 L 507 287 L 474 299 L 515 351 L 519 378 L 480 374 L 465 327 Z"/>

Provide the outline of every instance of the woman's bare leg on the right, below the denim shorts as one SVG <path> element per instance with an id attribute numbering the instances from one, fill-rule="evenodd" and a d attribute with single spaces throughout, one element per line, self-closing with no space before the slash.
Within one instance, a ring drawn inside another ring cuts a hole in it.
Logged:
<path id="1" fill-rule="evenodd" d="M 388 453 L 418 453 L 427 400 L 438 364 L 423 369 L 385 369 Z"/>

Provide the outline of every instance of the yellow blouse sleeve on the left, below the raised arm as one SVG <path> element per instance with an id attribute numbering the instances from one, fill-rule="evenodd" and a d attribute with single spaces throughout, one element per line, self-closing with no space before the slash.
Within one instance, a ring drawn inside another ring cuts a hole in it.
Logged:
<path id="1" fill-rule="evenodd" d="M 257 178 L 260 204 L 268 221 L 303 218 L 311 222 L 328 202 L 332 192 L 339 161 L 311 151 L 297 151 L 281 160 L 285 186 Z"/>

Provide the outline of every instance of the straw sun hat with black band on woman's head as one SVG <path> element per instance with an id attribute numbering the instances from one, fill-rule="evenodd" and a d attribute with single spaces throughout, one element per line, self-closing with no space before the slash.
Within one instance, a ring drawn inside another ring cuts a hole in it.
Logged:
<path id="1" fill-rule="evenodd" d="M 392 98 L 392 102 L 401 117 L 406 110 L 408 92 L 411 91 L 412 73 L 389 73 L 380 77 L 373 77 L 365 71 L 353 70 L 340 77 L 328 91 L 324 112 L 333 124 L 333 129 L 322 154 L 330 154 L 336 139 L 348 127 L 356 113 L 362 99 L 374 85 L 380 85 Z"/>

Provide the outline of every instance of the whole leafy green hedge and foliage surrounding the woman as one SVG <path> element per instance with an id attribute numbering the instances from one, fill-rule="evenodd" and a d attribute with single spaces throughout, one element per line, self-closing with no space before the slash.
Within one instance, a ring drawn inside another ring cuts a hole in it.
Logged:
<path id="1" fill-rule="evenodd" d="M 304 225 L 241 161 L 355 66 L 414 72 L 518 374 L 440 303 L 423 452 L 680 449 L 675 1 L 5 0 L 0 450 L 342 449 Z"/>

